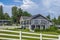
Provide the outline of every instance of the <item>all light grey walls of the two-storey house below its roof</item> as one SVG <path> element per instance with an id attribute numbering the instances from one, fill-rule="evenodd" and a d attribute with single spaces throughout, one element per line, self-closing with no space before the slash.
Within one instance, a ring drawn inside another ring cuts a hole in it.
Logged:
<path id="1" fill-rule="evenodd" d="M 23 19 L 23 17 L 21 18 Z M 37 26 L 39 26 L 40 29 L 48 29 L 50 27 L 50 25 L 52 24 L 49 20 L 47 20 L 46 18 L 42 17 L 42 16 L 38 16 L 38 17 L 34 17 L 32 19 L 23 19 L 21 20 L 21 22 L 23 21 L 23 24 L 21 24 L 21 26 L 24 26 L 26 28 L 29 28 L 30 30 L 32 30 L 32 28 L 37 28 Z M 28 22 L 25 23 L 24 21 Z M 25 23 L 25 24 L 24 24 Z M 35 26 L 35 27 L 33 27 Z"/>

